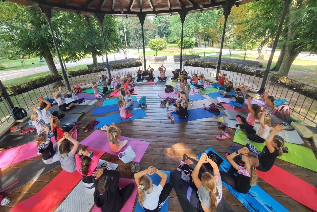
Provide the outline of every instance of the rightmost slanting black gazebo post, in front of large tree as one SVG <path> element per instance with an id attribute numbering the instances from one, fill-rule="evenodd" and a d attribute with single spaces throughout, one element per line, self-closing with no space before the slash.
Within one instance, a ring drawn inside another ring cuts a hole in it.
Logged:
<path id="1" fill-rule="evenodd" d="M 286 13 L 288 11 L 290 3 L 291 3 L 291 0 L 284 0 L 283 13 L 282 13 L 281 19 L 280 19 L 279 24 L 278 24 L 277 32 L 276 32 L 276 35 L 275 35 L 275 40 L 274 40 L 274 43 L 273 43 L 273 46 L 272 46 L 272 51 L 271 51 L 271 54 L 269 56 L 269 59 L 268 59 L 268 62 L 267 62 L 267 66 L 266 66 L 266 69 L 265 69 L 265 73 L 264 73 L 264 77 L 263 77 L 263 80 L 262 80 L 262 83 L 261 83 L 261 88 L 265 88 L 265 84 L 267 82 L 267 77 L 268 77 L 268 74 L 269 74 L 269 70 L 271 69 L 274 53 L 275 53 L 276 46 L 277 46 L 277 43 L 278 43 L 278 39 L 279 39 L 279 36 L 281 35 L 283 23 L 284 23 L 285 16 L 286 16 Z"/>

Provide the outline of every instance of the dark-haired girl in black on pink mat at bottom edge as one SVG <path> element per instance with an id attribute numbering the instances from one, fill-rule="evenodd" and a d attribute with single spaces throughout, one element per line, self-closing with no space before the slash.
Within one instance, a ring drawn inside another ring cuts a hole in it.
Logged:
<path id="1" fill-rule="evenodd" d="M 119 212 L 134 190 L 134 183 L 119 189 L 119 172 L 96 169 L 94 202 L 102 212 Z"/>

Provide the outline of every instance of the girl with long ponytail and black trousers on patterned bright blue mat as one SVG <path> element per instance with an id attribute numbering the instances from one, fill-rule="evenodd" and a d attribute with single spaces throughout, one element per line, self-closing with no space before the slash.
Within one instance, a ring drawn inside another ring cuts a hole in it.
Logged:
<path id="1" fill-rule="evenodd" d="M 233 159 L 242 154 L 241 160 L 244 162 L 244 167 L 239 166 Z M 227 156 L 228 161 L 237 172 L 237 176 L 233 173 L 220 171 L 223 182 L 229 184 L 240 193 L 247 193 L 251 186 L 257 184 L 256 167 L 259 166 L 259 159 L 256 154 L 249 153 L 247 147 L 243 147 L 236 152 Z"/>

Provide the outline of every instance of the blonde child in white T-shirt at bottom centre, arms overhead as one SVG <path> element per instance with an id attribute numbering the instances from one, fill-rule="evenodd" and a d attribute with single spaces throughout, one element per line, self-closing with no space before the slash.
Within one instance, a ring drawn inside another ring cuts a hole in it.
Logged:
<path id="1" fill-rule="evenodd" d="M 150 176 L 158 174 L 162 178 L 159 185 L 153 184 L 152 179 L 147 174 Z M 172 184 L 166 184 L 167 174 L 150 166 L 144 171 L 135 173 L 134 179 L 138 186 L 138 201 L 144 211 L 159 212 L 173 189 Z"/>

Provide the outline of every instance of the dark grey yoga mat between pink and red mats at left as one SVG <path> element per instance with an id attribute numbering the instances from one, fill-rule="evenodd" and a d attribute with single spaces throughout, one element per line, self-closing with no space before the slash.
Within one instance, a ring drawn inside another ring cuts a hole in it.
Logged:
<path id="1" fill-rule="evenodd" d="M 19 168 L 15 171 L 10 172 L 9 174 L 2 176 L 0 178 L 0 190 L 3 190 L 11 186 L 15 182 L 19 181 L 17 184 L 6 190 L 6 192 L 11 192 L 27 184 L 28 182 L 31 182 L 32 180 L 48 173 L 49 171 L 52 171 L 58 166 L 60 166 L 59 161 L 50 165 L 45 165 L 42 161 L 42 158 L 37 159 L 22 168 Z"/>

